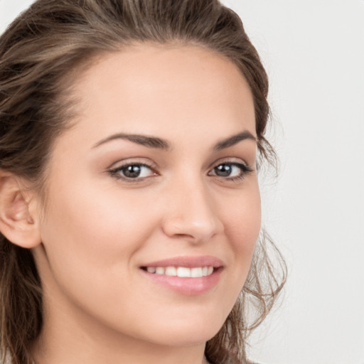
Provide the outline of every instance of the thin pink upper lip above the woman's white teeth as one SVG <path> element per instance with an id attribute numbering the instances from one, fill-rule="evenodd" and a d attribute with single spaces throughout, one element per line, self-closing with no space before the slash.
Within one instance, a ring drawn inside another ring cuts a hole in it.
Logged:
<path id="1" fill-rule="evenodd" d="M 212 257 L 210 255 L 198 256 L 198 257 L 173 257 L 163 260 L 158 260 L 156 262 L 150 262 L 142 265 L 141 267 L 186 267 L 186 268 L 196 268 L 196 267 L 223 267 L 223 261 L 217 257 Z"/>

